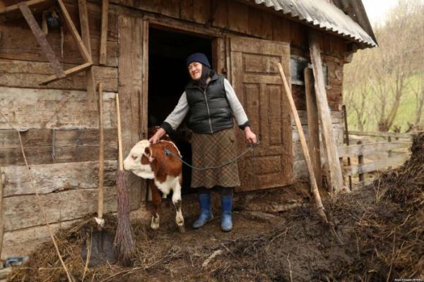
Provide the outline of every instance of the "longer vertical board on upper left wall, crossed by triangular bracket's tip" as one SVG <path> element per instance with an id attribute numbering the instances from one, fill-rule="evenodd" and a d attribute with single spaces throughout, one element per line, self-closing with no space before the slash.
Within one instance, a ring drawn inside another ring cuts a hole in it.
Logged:
<path id="1" fill-rule="evenodd" d="M 90 27 L 88 25 L 88 11 L 87 1 L 78 0 L 78 11 L 81 23 L 81 35 L 83 37 L 83 43 L 87 48 L 88 55 L 91 60 L 91 43 L 90 43 Z M 97 100 L 95 94 L 95 80 L 93 68 L 87 68 L 86 70 L 86 82 L 87 82 L 87 100 L 91 109 L 95 109 L 95 102 Z"/>

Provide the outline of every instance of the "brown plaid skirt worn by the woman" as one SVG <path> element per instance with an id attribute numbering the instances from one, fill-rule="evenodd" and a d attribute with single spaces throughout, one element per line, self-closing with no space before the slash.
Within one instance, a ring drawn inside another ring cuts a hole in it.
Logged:
<path id="1" fill-rule="evenodd" d="M 192 164 L 196 167 L 220 166 L 237 157 L 234 128 L 220 130 L 213 134 L 192 135 Z M 192 169 L 192 188 L 213 188 L 240 186 L 237 161 L 220 168 L 199 171 Z"/>

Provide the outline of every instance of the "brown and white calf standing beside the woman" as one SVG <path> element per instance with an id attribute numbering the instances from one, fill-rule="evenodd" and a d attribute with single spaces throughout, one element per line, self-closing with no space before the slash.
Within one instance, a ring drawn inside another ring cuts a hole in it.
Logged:
<path id="1" fill-rule="evenodd" d="M 160 140 L 156 144 L 151 144 L 148 140 L 141 140 L 129 152 L 124 161 L 124 168 L 136 176 L 148 179 L 153 200 L 151 228 L 159 228 L 159 210 L 162 201 L 160 192 L 166 197 L 172 190 L 172 203 L 177 212 L 175 221 L 179 231 L 184 232 L 184 217 L 181 211 L 182 163 L 179 159 L 165 154 L 165 149 L 181 157 L 172 141 Z"/>

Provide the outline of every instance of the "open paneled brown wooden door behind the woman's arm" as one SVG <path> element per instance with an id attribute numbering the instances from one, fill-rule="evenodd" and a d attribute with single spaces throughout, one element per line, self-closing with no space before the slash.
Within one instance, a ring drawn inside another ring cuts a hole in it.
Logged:
<path id="1" fill-rule="evenodd" d="M 230 38 L 230 78 L 261 144 L 238 162 L 239 191 L 276 188 L 293 183 L 292 126 L 278 66 L 290 82 L 290 45 L 282 42 Z M 239 154 L 247 148 L 237 130 Z"/>

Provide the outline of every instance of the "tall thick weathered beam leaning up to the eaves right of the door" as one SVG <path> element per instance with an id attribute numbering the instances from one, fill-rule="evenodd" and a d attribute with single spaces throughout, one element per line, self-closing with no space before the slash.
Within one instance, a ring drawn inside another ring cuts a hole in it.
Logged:
<path id="1" fill-rule="evenodd" d="M 329 164 L 330 187 L 329 192 L 340 192 L 343 190 L 343 176 L 338 161 L 336 140 L 334 139 L 329 113 L 329 103 L 326 97 L 324 74 L 322 72 L 321 51 L 319 49 L 318 37 L 314 31 L 310 31 L 310 56 L 315 80 L 315 95 L 319 118 L 321 120 L 322 137 L 326 148 L 326 157 Z"/>

